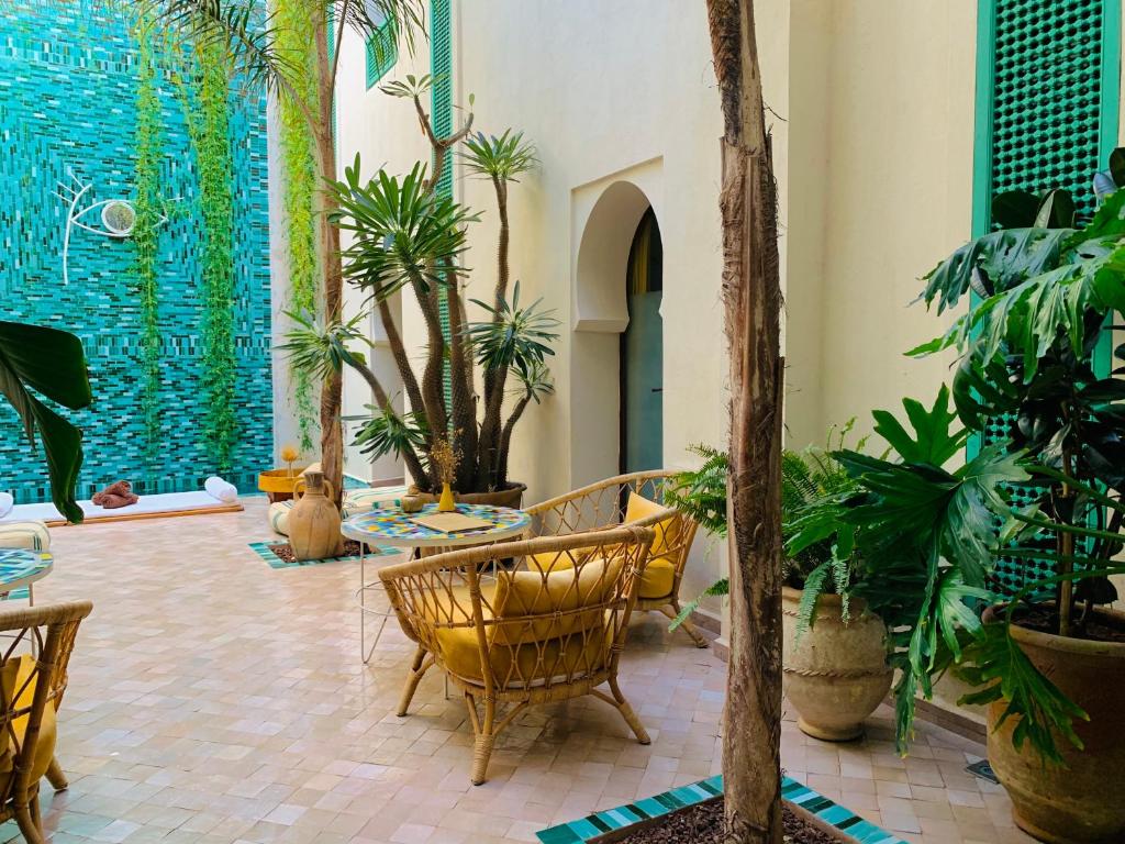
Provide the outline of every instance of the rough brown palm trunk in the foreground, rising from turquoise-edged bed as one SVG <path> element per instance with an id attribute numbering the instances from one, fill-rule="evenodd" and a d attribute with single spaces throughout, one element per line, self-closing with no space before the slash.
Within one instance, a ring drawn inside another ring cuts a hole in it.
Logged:
<path id="1" fill-rule="evenodd" d="M 726 841 L 780 844 L 781 282 L 776 186 L 753 0 L 708 0 L 722 102 L 726 330 L 730 347 L 730 667 Z"/>

